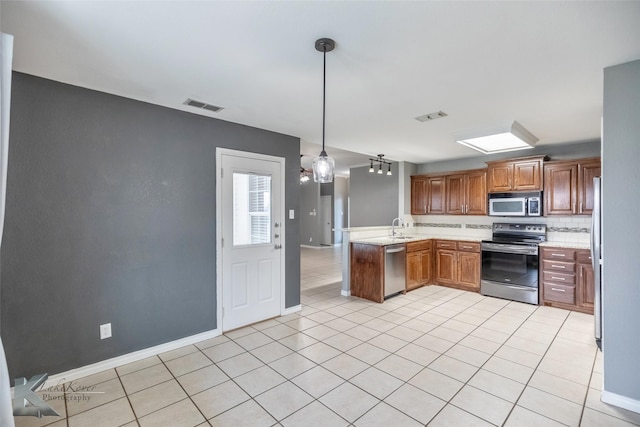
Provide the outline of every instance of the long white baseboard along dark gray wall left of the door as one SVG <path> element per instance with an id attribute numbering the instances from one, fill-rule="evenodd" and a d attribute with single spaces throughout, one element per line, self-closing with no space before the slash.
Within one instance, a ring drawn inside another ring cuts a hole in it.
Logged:
<path id="1" fill-rule="evenodd" d="M 171 341 L 168 343 L 160 344 L 154 347 L 145 348 L 143 350 L 134 351 L 133 353 L 117 356 L 112 359 L 103 360 L 91 365 L 82 366 L 80 368 L 71 369 L 70 371 L 62 372 L 50 376 L 44 383 L 42 388 L 51 387 L 57 384 L 74 381 L 88 375 L 97 374 L 98 372 L 106 371 L 107 369 L 117 368 L 119 366 L 126 365 L 128 363 L 137 362 L 138 360 L 146 359 L 147 357 L 156 356 L 160 353 L 175 350 L 185 345 L 195 344 L 200 341 L 215 338 L 221 335 L 220 329 L 214 329 L 200 334 L 191 335 L 189 337 L 180 338 L 179 340 Z"/>

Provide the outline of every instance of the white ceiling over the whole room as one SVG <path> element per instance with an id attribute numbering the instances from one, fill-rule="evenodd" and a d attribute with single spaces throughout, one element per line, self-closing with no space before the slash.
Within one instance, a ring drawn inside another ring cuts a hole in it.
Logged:
<path id="1" fill-rule="evenodd" d="M 538 145 L 597 139 L 602 69 L 640 59 L 639 22 L 639 1 L 1 2 L 15 70 L 294 135 L 302 154 L 322 141 L 314 43 L 333 38 L 327 152 L 354 164 L 475 156 L 455 134 L 513 120 Z"/>

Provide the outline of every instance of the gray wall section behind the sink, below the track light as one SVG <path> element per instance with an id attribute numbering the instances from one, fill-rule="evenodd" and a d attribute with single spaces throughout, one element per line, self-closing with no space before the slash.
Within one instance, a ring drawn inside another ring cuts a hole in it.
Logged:
<path id="1" fill-rule="evenodd" d="M 386 172 L 386 167 L 383 168 Z M 369 173 L 369 166 L 351 168 L 350 227 L 389 225 L 399 216 L 400 185 L 398 163 L 391 164 L 392 176 Z"/>

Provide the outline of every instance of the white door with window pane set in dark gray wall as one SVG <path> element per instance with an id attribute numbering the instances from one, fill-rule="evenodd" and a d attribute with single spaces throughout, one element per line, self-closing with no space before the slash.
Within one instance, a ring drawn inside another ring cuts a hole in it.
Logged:
<path id="1" fill-rule="evenodd" d="M 219 149 L 218 168 L 218 285 L 228 331 L 281 313 L 284 159 Z"/>

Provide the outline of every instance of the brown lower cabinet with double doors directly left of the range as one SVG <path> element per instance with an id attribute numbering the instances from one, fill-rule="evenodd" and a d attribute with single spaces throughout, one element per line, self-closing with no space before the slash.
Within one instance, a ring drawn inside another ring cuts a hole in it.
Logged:
<path id="1" fill-rule="evenodd" d="M 436 240 L 435 253 L 436 284 L 480 291 L 480 243 Z"/>

